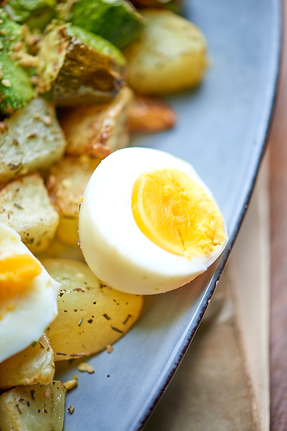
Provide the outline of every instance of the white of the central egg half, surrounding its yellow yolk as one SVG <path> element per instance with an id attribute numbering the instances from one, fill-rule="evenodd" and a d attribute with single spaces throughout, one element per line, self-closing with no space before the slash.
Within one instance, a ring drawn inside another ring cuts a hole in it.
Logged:
<path id="1" fill-rule="evenodd" d="M 208 256 L 192 259 L 170 253 L 145 236 L 131 209 L 132 188 L 139 175 L 161 168 L 185 172 L 212 197 L 189 163 L 143 147 L 107 156 L 85 189 L 79 212 L 82 253 L 95 275 L 117 290 L 156 294 L 176 289 L 202 274 L 226 246 L 226 224 L 224 244 Z"/>

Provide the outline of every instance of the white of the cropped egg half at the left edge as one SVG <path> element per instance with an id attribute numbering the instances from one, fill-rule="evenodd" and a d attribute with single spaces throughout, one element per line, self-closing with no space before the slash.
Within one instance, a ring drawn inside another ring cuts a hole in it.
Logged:
<path id="1" fill-rule="evenodd" d="M 0 303 L 0 362 L 38 341 L 58 314 L 57 296 L 61 284 L 49 276 L 43 265 L 21 242 L 20 235 L 0 223 L 0 259 L 15 254 L 29 254 L 42 272 L 31 282 L 27 292 Z M 7 308 L 7 305 L 12 304 Z"/>

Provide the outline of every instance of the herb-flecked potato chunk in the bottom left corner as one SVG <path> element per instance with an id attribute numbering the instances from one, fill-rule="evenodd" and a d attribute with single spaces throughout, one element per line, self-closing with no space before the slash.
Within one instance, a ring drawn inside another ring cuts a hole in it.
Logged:
<path id="1" fill-rule="evenodd" d="M 1 431 L 62 431 L 65 394 L 61 381 L 4 392 L 0 396 Z"/>

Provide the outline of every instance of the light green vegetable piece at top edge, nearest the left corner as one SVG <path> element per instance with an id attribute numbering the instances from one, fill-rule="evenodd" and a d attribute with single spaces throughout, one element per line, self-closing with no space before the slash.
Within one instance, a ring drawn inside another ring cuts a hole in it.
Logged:
<path id="1" fill-rule="evenodd" d="M 56 0 L 9 0 L 5 9 L 13 21 L 43 30 L 54 17 Z"/>

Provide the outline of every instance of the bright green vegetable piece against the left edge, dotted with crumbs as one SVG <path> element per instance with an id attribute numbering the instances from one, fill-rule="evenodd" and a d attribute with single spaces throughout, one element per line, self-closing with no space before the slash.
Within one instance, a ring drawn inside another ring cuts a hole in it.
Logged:
<path id="1" fill-rule="evenodd" d="M 34 95 L 27 69 L 14 58 L 20 54 L 17 46 L 25 55 L 21 40 L 22 26 L 10 20 L 6 11 L 0 9 L 0 110 L 5 114 L 24 106 Z"/>

